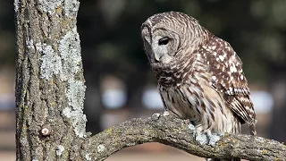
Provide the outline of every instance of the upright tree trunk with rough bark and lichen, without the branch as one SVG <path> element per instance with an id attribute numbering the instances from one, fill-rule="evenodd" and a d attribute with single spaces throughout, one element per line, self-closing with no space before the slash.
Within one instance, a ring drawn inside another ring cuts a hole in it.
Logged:
<path id="1" fill-rule="evenodd" d="M 87 137 L 77 0 L 15 0 L 17 160 L 76 159 Z M 72 153 L 76 154 L 76 153 Z"/>

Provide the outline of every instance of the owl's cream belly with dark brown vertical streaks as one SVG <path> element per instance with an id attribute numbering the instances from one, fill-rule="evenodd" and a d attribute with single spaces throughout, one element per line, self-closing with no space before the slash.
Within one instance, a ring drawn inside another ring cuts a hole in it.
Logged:
<path id="1" fill-rule="evenodd" d="M 224 99 L 207 83 L 184 83 L 177 86 L 160 86 L 165 109 L 181 119 L 188 119 L 204 130 L 217 132 L 240 131 L 237 118 L 224 104 Z"/>

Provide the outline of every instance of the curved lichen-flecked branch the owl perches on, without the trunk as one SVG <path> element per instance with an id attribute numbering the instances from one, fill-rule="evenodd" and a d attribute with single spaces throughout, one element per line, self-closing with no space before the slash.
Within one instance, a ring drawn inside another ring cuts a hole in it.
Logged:
<path id="1" fill-rule="evenodd" d="M 196 143 L 193 132 L 187 123 L 171 116 L 135 118 L 84 141 L 77 153 L 86 160 L 103 160 L 122 148 L 159 142 L 198 157 L 286 160 L 286 146 L 275 140 L 226 133 L 214 146 L 208 146 Z"/>

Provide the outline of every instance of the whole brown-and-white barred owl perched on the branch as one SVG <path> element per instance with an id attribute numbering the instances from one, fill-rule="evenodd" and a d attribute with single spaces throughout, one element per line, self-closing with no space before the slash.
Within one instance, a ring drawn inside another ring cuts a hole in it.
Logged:
<path id="1" fill-rule="evenodd" d="M 158 13 L 141 26 L 147 58 L 167 111 L 199 132 L 239 133 L 256 114 L 240 57 L 187 14 Z"/>

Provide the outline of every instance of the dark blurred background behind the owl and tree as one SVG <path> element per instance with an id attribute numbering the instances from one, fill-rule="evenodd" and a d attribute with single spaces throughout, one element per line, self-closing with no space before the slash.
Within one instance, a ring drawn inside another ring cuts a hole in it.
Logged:
<path id="1" fill-rule="evenodd" d="M 13 2 L 0 0 L 0 160 L 15 160 Z M 154 13 L 180 11 L 231 43 L 244 63 L 257 111 L 257 133 L 286 141 L 286 1 L 81 0 L 78 15 L 88 87 L 85 114 L 94 133 L 163 111 L 140 25 Z M 243 131 L 248 132 L 244 126 Z M 148 143 L 107 160 L 205 160 Z"/>

